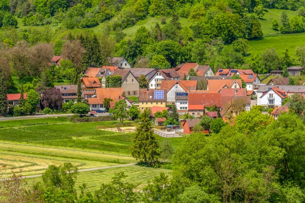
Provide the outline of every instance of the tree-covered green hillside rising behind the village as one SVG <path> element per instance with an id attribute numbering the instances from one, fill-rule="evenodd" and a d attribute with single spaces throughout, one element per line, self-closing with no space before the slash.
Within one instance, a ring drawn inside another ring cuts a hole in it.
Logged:
<path id="1" fill-rule="evenodd" d="M 303 46 L 277 53 L 263 38 L 264 32 L 304 32 L 304 6 L 301 0 L 1 0 L 0 71 L 10 92 L 21 84 L 44 89 L 76 83 L 88 66 L 108 65 L 113 56 L 141 68 L 197 62 L 214 71 L 234 67 L 265 74 L 304 65 Z M 270 17 L 276 9 L 295 12 Z M 65 58 L 59 68 L 49 66 L 53 55 Z"/>

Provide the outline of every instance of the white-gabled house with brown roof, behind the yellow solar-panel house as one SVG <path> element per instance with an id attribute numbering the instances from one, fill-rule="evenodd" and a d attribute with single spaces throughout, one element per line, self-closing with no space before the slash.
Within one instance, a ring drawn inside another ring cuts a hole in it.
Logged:
<path id="1" fill-rule="evenodd" d="M 160 89 L 162 80 L 180 80 L 180 75 L 174 69 L 158 70 L 149 80 L 149 88 Z"/>

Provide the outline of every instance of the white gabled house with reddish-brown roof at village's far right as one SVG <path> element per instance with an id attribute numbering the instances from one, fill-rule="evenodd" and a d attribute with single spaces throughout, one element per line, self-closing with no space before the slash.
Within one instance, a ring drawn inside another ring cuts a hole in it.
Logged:
<path id="1" fill-rule="evenodd" d="M 287 97 L 286 92 L 278 87 L 269 88 L 263 92 L 262 96 L 257 97 L 257 105 L 268 107 L 281 107 L 283 100 Z"/>

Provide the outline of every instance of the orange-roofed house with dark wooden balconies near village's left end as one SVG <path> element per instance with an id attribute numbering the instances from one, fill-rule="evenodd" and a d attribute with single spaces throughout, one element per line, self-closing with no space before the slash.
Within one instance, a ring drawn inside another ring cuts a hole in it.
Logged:
<path id="1" fill-rule="evenodd" d="M 95 89 L 101 88 L 101 83 L 97 77 L 82 77 L 82 90 L 84 98 L 92 98 L 95 95 Z"/>

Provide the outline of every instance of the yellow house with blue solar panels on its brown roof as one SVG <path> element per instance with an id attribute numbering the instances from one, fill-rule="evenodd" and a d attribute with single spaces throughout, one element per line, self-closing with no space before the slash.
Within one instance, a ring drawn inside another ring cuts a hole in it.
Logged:
<path id="1" fill-rule="evenodd" d="M 152 108 L 153 106 L 166 107 L 166 90 L 140 89 L 139 91 L 139 108 Z"/>

